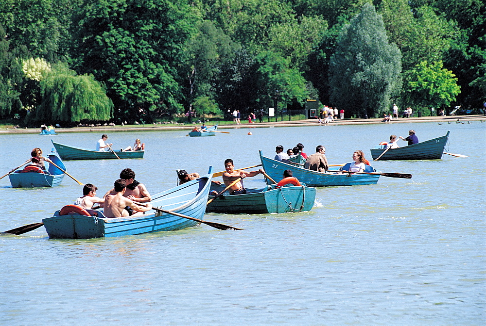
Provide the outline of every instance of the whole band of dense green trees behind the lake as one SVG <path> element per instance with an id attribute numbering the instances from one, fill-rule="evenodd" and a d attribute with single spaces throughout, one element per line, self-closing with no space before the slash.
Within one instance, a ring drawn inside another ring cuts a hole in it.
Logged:
<path id="1" fill-rule="evenodd" d="M 0 118 L 148 122 L 316 95 L 347 116 L 479 108 L 485 17 L 484 0 L 2 0 Z M 33 79 L 25 62 L 73 71 Z"/>

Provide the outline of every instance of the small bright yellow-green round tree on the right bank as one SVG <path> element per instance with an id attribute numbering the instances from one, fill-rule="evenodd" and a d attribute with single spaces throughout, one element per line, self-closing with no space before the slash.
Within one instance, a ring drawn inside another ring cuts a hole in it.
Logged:
<path id="1" fill-rule="evenodd" d="M 449 106 L 461 89 L 457 85 L 455 75 L 443 67 L 442 61 L 432 64 L 423 61 L 407 71 L 404 78 L 406 100 L 420 106 L 424 114 L 428 113 L 431 107 Z"/>

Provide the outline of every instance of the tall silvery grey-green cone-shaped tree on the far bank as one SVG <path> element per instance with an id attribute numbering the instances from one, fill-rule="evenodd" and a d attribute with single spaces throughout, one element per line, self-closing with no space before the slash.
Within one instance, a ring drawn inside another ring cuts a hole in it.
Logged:
<path id="1" fill-rule="evenodd" d="M 382 114 L 401 87 L 400 59 L 382 17 L 365 4 L 343 29 L 330 59 L 331 104 L 359 116 Z"/>

